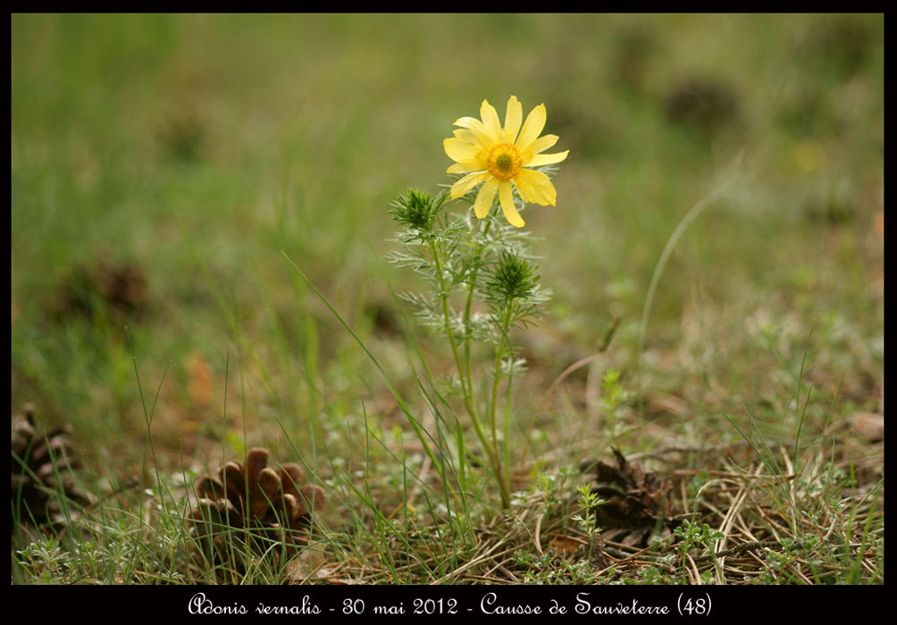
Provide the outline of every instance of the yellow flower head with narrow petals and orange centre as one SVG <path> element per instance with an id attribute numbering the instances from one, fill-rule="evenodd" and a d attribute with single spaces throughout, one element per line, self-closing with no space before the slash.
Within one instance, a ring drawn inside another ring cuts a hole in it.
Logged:
<path id="1" fill-rule="evenodd" d="M 489 213 L 498 191 L 505 219 L 522 228 L 524 221 L 514 206 L 511 182 L 524 202 L 553 206 L 557 191 L 552 181 L 543 172 L 526 168 L 561 162 L 570 150 L 542 153 L 558 140 L 557 135 L 539 136 L 545 126 L 544 104 L 530 111 L 523 127 L 520 125 L 523 107 L 515 96 L 508 100 L 503 128 L 498 112 L 486 100 L 480 105 L 480 117 L 483 121 L 461 117 L 455 122 L 455 126 L 461 126 L 454 131 L 455 136 L 442 142 L 448 157 L 456 161 L 448 173 L 467 174 L 452 185 L 452 199 L 465 195 L 482 182 L 474 203 L 476 216 L 483 219 Z"/>

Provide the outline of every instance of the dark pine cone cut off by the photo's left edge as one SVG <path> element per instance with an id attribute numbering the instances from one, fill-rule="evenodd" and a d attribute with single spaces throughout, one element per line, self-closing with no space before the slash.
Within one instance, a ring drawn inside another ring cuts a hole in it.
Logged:
<path id="1" fill-rule="evenodd" d="M 13 420 L 12 472 L 10 478 L 13 511 L 33 525 L 62 525 L 66 516 L 62 499 L 80 506 L 90 496 L 77 488 L 71 478 L 77 463 L 67 426 L 42 434 L 34 419 L 34 406 L 25 404 L 24 415 Z M 21 508 L 20 508 L 21 507 Z M 69 517 L 74 512 L 69 510 Z"/>

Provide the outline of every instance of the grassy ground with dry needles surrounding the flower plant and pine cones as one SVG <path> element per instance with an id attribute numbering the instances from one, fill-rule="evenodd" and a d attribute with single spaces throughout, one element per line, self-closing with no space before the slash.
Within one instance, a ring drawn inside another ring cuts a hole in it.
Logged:
<path id="1" fill-rule="evenodd" d="M 327 505 L 247 583 L 884 583 L 884 442 L 849 421 L 884 413 L 882 15 L 16 14 L 12 56 L 11 408 L 72 427 L 97 498 L 65 531 L 13 507 L 15 583 L 215 580 L 184 518 L 249 447 Z M 554 297 L 505 514 L 383 258 L 510 94 L 570 157 L 525 215 Z M 72 307 L 125 263 L 136 308 Z M 612 443 L 680 535 L 588 540 Z"/>

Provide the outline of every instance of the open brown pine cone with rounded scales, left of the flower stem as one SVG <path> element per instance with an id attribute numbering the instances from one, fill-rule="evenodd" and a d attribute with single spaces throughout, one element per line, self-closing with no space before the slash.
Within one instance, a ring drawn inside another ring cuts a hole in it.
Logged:
<path id="1" fill-rule="evenodd" d="M 231 461 L 217 477 L 207 475 L 197 483 L 199 502 L 187 525 L 206 563 L 240 571 L 234 557 L 241 551 L 238 543 L 259 553 L 277 551 L 272 544 L 283 543 L 290 555 L 304 541 L 300 530 L 310 527 L 312 506 L 324 503 L 324 490 L 300 486 L 299 464 L 282 464 L 278 471 L 266 466 L 267 460 L 267 449 L 253 447 L 245 467 Z"/>

